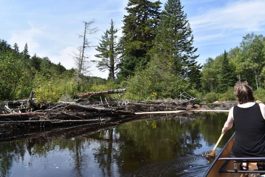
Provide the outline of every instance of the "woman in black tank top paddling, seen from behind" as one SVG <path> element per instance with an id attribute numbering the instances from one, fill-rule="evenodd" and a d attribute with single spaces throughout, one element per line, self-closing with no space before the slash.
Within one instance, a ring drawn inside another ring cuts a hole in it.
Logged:
<path id="1" fill-rule="evenodd" d="M 231 157 L 265 157 L 265 105 L 254 102 L 252 88 L 247 82 L 237 82 L 234 94 L 238 105 L 228 114 L 222 133 L 235 126 L 236 138 Z M 257 163 L 264 170 L 264 163 Z M 248 163 L 240 164 L 241 170 L 248 169 Z"/>

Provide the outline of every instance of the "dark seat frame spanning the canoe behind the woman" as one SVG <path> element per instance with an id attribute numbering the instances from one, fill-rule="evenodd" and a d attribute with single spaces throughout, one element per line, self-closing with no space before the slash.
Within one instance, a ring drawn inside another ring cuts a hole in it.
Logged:
<path id="1" fill-rule="evenodd" d="M 245 158 L 218 158 L 218 160 L 226 160 L 226 162 L 223 164 L 223 166 L 220 168 L 219 173 L 265 173 L 265 171 L 248 171 L 248 170 L 238 170 L 237 169 L 237 163 L 257 163 L 257 162 L 264 162 L 265 163 L 265 157 L 245 157 Z M 234 162 L 234 169 L 233 170 L 225 170 L 228 163 L 233 160 Z"/>

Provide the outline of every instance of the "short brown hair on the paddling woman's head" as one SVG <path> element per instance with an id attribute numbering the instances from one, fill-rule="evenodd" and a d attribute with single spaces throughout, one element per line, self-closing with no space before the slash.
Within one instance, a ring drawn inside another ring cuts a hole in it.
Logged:
<path id="1" fill-rule="evenodd" d="M 234 93 L 239 104 L 254 101 L 253 90 L 247 82 L 236 82 Z"/>

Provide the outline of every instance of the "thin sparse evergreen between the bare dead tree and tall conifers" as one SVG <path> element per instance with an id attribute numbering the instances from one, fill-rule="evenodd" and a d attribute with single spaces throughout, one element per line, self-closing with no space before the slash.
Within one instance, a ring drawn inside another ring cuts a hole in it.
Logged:
<path id="1" fill-rule="evenodd" d="M 97 45 L 96 50 L 99 54 L 95 57 L 100 58 L 97 62 L 97 68 L 100 71 L 108 70 L 111 74 L 112 81 L 115 80 L 115 71 L 117 69 L 117 60 L 119 60 L 118 55 L 120 53 L 119 44 L 117 42 L 117 29 L 114 28 L 114 22 L 111 19 L 110 30 L 106 30 L 104 35 L 101 36 L 99 45 Z"/>

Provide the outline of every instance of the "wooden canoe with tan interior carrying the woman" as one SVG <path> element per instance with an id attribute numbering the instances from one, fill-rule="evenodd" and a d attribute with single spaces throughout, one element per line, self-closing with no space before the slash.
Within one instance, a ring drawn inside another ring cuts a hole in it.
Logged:
<path id="1" fill-rule="evenodd" d="M 265 162 L 265 158 L 229 158 L 234 141 L 235 133 L 228 140 L 221 152 L 216 155 L 213 163 L 209 166 L 203 177 L 239 177 L 265 172 L 258 171 L 256 165 L 258 161 Z M 242 162 L 249 162 L 248 171 L 240 170 L 239 165 Z"/>

